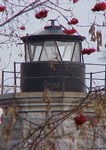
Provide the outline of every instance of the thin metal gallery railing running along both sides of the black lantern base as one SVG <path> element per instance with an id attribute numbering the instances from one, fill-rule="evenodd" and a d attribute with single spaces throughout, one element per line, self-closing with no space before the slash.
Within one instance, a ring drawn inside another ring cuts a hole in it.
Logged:
<path id="1" fill-rule="evenodd" d="M 14 71 L 2 71 L 1 94 L 20 92 L 20 62 L 14 63 Z M 104 90 L 106 91 L 106 65 L 85 63 L 85 88 L 87 91 Z M 53 77 L 53 76 L 52 76 Z M 35 78 L 35 77 L 34 77 Z M 50 77 L 38 77 L 50 78 Z M 53 77 L 56 79 L 56 76 Z M 63 80 L 69 77 L 62 77 Z M 72 77 L 70 77 L 72 78 Z M 81 80 L 82 77 L 78 77 Z"/>

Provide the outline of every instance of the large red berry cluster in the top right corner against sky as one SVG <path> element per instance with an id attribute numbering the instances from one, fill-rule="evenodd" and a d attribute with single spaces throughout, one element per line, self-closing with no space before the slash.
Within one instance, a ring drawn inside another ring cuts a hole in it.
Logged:
<path id="1" fill-rule="evenodd" d="M 96 3 L 91 9 L 92 11 L 104 11 L 106 10 L 106 2 Z"/>

